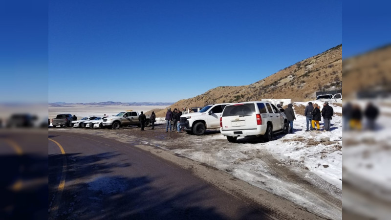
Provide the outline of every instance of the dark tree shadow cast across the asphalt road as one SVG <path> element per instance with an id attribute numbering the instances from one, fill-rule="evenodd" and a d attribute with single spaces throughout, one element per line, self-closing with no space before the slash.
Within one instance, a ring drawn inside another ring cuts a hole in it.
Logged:
<path id="1" fill-rule="evenodd" d="M 49 200 L 56 194 L 61 154 L 49 155 Z M 172 186 L 158 187 L 156 178 L 148 174 L 125 177 L 115 173 L 118 167 L 130 167 L 126 161 L 107 162 L 115 153 L 66 154 L 66 184 L 58 215 L 49 219 L 227 219 L 217 213 L 213 205 L 201 206 L 205 186 L 189 187 L 173 193 Z M 114 174 L 115 173 L 115 174 Z M 50 202 L 50 201 L 49 201 Z M 205 208 L 207 207 L 207 208 Z M 264 219 L 258 209 L 249 208 L 240 213 L 241 219 Z"/>

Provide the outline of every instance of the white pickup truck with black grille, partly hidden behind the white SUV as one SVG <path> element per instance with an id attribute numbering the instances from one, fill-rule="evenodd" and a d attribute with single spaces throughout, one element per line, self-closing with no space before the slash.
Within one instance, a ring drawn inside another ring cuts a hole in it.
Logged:
<path id="1" fill-rule="evenodd" d="M 232 103 L 213 104 L 198 112 L 184 114 L 180 117 L 180 126 L 187 133 L 195 135 L 204 135 L 206 129 L 218 129 L 221 113 L 230 104 Z"/>

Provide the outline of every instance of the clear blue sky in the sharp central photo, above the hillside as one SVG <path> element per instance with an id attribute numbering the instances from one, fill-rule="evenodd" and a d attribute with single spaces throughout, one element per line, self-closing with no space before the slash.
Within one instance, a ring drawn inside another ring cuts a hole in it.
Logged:
<path id="1" fill-rule="evenodd" d="M 50 1 L 49 102 L 175 102 L 342 44 L 342 2 Z"/>

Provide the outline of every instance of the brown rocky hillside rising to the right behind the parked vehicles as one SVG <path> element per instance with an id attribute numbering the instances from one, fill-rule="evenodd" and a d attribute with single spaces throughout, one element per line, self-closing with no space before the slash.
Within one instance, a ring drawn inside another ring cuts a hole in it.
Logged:
<path id="1" fill-rule="evenodd" d="M 262 98 L 315 99 L 315 91 L 342 88 L 342 44 L 288 66 L 247 86 L 221 86 L 190 99 L 182 99 L 171 108 L 200 107 L 213 103 L 260 101 Z M 155 110 L 164 117 L 167 110 Z M 150 114 L 151 112 L 147 112 Z"/>

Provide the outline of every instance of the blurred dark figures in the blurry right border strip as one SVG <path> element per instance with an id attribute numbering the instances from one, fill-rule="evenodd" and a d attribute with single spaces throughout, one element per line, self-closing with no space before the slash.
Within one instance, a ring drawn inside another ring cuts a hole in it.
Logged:
<path id="1" fill-rule="evenodd" d="M 342 119 L 343 119 L 343 129 L 344 131 L 349 130 L 362 130 L 362 119 L 363 116 L 367 119 L 367 129 L 375 130 L 376 129 L 376 119 L 379 116 L 379 109 L 371 102 L 367 104 L 365 110 L 362 111 L 360 105 L 352 104 L 348 102 L 342 108 Z"/>

